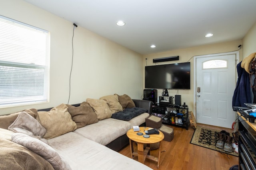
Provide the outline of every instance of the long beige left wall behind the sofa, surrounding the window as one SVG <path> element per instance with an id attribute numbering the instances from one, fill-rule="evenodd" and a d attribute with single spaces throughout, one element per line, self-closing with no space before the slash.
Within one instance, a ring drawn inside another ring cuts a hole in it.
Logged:
<path id="1" fill-rule="evenodd" d="M 50 31 L 50 102 L 0 109 L 0 114 L 68 103 L 73 23 L 22 0 L 0 0 L 0 15 Z M 74 63 L 69 104 L 86 98 L 128 94 L 140 99 L 142 55 L 79 26 L 74 35 Z"/>

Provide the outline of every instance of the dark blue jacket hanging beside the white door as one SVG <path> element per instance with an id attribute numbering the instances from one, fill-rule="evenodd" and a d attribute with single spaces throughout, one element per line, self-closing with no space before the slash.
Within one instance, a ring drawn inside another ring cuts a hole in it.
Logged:
<path id="1" fill-rule="evenodd" d="M 250 74 L 246 72 L 244 68 L 241 67 L 241 63 L 242 62 L 238 63 L 236 66 L 238 79 L 236 82 L 236 88 L 232 98 L 232 107 L 246 107 L 244 103 L 252 103 L 252 88 L 250 87 Z"/>

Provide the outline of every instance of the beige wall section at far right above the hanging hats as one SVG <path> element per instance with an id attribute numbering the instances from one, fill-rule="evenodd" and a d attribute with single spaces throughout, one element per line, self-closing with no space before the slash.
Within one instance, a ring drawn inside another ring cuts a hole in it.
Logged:
<path id="1" fill-rule="evenodd" d="M 243 58 L 256 53 L 256 22 L 243 38 Z"/>

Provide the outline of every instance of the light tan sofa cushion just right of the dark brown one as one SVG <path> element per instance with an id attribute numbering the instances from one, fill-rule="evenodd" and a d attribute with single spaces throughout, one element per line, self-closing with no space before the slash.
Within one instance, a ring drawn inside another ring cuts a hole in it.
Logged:
<path id="1" fill-rule="evenodd" d="M 111 117 L 111 111 L 110 111 L 108 104 L 105 100 L 88 98 L 88 99 L 86 99 L 86 102 L 95 111 L 99 120 L 103 120 L 103 119 Z"/>

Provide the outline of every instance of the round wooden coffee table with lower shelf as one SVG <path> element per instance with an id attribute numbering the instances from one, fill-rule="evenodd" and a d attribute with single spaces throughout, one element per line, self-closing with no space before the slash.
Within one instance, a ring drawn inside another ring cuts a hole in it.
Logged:
<path id="1" fill-rule="evenodd" d="M 164 139 L 164 134 L 159 131 L 159 134 L 153 134 L 149 135 L 149 138 L 143 137 L 146 133 L 144 131 L 148 130 L 150 127 L 140 127 L 140 131 L 134 132 L 133 129 L 130 129 L 127 131 L 126 135 L 128 136 L 130 140 L 130 150 L 131 150 L 131 156 L 132 159 L 133 156 L 138 156 L 138 161 L 144 164 L 145 159 L 148 158 L 150 160 L 154 160 L 157 162 L 157 168 L 159 168 L 159 162 L 160 162 L 160 153 L 161 153 L 161 141 Z M 137 135 L 138 132 L 143 133 L 143 135 Z M 133 150 L 133 141 L 137 142 L 138 145 L 138 152 L 134 152 Z M 151 143 L 157 143 L 159 144 L 159 151 L 158 151 L 158 158 L 150 155 L 150 144 Z M 144 150 L 144 144 L 147 144 L 146 149 Z"/>

